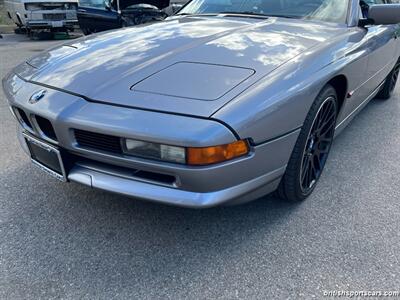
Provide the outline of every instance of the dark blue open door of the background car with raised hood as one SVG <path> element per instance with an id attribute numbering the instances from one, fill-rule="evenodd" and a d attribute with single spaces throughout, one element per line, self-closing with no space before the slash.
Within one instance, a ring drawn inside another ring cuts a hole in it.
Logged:
<path id="1" fill-rule="evenodd" d="M 103 0 L 81 1 L 78 7 L 78 21 L 84 33 L 120 27 L 118 12 L 113 8 L 106 8 Z"/>

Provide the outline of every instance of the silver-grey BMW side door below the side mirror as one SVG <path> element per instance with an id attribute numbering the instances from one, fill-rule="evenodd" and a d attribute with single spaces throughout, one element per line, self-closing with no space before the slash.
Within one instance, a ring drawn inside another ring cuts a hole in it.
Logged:
<path id="1" fill-rule="evenodd" d="M 368 5 L 387 4 L 389 1 L 369 0 Z M 372 93 L 386 78 L 393 68 L 397 58 L 396 54 L 396 25 L 371 25 L 366 27 L 369 56 L 368 56 L 368 81 L 366 91 Z"/>

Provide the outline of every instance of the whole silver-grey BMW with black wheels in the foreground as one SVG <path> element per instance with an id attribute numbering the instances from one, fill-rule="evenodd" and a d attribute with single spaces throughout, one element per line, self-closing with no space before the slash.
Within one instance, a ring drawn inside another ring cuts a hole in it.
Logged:
<path id="1" fill-rule="evenodd" d="M 393 93 L 389 2 L 192 0 L 41 53 L 3 87 L 22 147 L 62 181 L 195 208 L 301 201 L 334 137 Z"/>

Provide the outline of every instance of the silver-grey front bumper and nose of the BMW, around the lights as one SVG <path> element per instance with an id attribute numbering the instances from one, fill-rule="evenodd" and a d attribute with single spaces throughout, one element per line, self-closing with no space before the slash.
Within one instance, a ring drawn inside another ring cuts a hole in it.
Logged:
<path id="1" fill-rule="evenodd" d="M 275 190 L 284 174 L 298 132 L 253 147 L 250 155 L 225 163 L 190 167 L 115 155 L 77 144 L 73 129 L 177 146 L 210 146 L 236 140 L 219 122 L 88 102 L 74 95 L 46 89 L 35 104 L 28 99 L 42 87 L 10 76 L 4 81 L 9 104 L 31 118 L 31 134 L 56 145 L 67 158 L 70 181 L 146 200 L 204 208 L 253 200 Z M 54 127 L 57 141 L 36 127 L 35 116 Z M 24 140 L 21 138 L 21 144 Z M 134 170 L 134 172 L 133 172 Z M 140 174 L 160 174 L 164 182 Z"/>

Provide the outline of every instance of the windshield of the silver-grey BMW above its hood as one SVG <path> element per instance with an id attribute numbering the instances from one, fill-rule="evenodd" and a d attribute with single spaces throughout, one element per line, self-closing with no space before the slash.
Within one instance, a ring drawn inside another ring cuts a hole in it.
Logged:
<path id="1" fill-rule="evenodd" d="M 346 23 L 349 0 L 192 0 L 180 14 L 252 14 Z"/>

